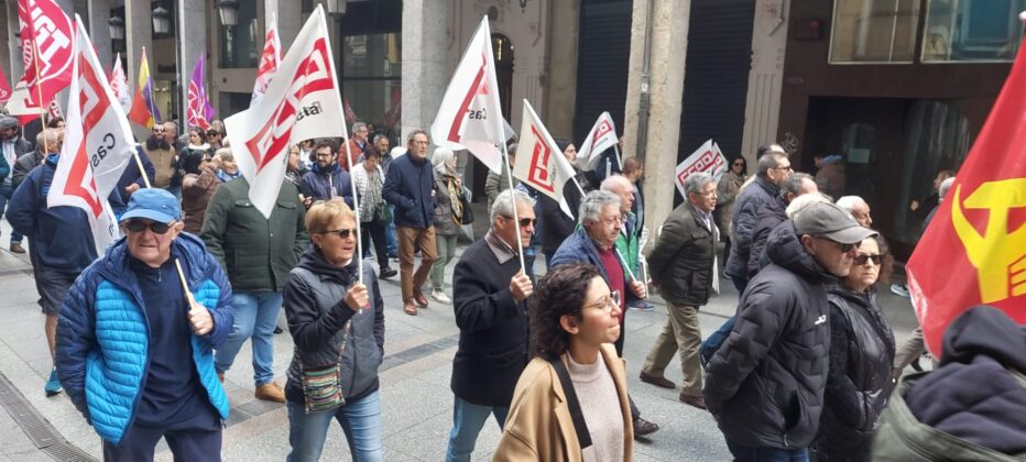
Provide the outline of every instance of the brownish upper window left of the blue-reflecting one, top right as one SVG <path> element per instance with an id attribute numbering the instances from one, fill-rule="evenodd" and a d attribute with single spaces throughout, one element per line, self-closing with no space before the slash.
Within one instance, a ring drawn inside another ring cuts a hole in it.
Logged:
<path id="1" fill-rule="evenodd" d="M 912 63 L 919 0 L 837 0 L 830 63 Z"/>

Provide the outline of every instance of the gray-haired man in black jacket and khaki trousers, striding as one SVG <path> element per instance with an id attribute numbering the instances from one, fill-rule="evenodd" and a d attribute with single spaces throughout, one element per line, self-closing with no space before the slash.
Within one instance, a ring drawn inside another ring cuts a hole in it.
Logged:
<path id="1" fill-rule="evenodd" d="M 712 175 L 695 173 L 684 182 L 687 204 L 677 207 L 663 223 L 648 254 L 653 283 L 666 300 L 666 326 L 652 345 L 641 381 L 674 388 L 664 375 L 666 365 L 680 352 L 681 403 L 705 409 L 702 402 L 702 373 L 698 361 L 701 331 L 698 327 L 698 308 L 709 301 L 718 290 L 718 274 L 713 267 L 716 243 L 720 233 L 712 219 L 716 209 L 717 180 Z"/>

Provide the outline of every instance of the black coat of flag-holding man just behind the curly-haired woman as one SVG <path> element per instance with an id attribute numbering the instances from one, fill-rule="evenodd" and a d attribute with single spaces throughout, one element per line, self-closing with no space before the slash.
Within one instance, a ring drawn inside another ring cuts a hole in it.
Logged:
<path id="1" fill-rule="evenodd" d="M 452 394 L 476 405 L 509 407 L 527 365 L 527 309 L 510 293 L 519 261 L 499 263 L 489 239 L 498 238 L 489 233 L 470 244 L 452 274 L 459 349 L 450 386 Z"/>

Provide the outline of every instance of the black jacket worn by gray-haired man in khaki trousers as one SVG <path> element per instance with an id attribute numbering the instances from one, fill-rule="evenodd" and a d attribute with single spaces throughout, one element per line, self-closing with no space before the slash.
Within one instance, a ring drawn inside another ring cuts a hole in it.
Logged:
<path id="1" fill-rule="evenodd" d="M 674 305 L 702 306 L 712 292 L 712 261 L 719 231 L 698 217 L 690 202 L 677 207 L 663 223 L 648 253 L 648 271 L 659 294 Z"/>

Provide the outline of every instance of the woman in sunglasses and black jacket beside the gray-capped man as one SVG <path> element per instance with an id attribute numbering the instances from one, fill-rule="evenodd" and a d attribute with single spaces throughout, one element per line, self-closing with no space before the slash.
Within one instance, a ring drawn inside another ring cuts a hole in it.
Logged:
<path id="1" fill-rule="evenodd" d="M 894 333 L 876 304 L 876 282 L 889 273 L 883 238 L 862 241 L 851 272 L 828 290 L 830 370 L 819 433 L 818 461 L 869 461 L 873 432 L 894 389 Z"/>

